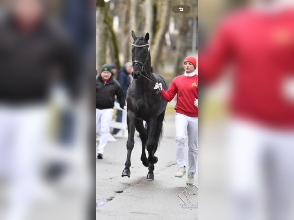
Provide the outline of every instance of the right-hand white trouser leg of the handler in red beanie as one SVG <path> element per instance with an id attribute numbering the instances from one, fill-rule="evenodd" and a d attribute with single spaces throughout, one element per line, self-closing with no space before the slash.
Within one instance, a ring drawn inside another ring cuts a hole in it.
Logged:
<path id="1" fill-rule="evenodd" d="M 198 117 L 188 117 L 188 147 L 188 171 L 195 174 L 198 158 Z"/>

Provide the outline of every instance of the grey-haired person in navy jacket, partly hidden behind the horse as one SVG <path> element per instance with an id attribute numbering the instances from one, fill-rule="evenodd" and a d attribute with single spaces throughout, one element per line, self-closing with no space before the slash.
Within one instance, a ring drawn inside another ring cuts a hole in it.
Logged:
<path id="1" fill-rule="evenodd" d="M 121 67 L 121 69 L 118 72 L 118 76 L 117 76 L 117 81 L 119 82 L 119 84 L 121 85 L 121 87 L 123 88 L 123 92 L 125 94 L 127 94 L 128 91 L 128 87 L 131 84 L 131 74 L 133 72 L 133 67 L 132 67 L 132 63 L 131 62 L 126 62 L 125 65 L 123 67 Z M 122 122 L 123 119 L 123 111 L 121 110 L 117 110 L 116 112 L 116 122 Z M 113 134 L 117 134 L 118 131 L 120 129 L 118 128 L 114 128 L 113 129 Z"/>

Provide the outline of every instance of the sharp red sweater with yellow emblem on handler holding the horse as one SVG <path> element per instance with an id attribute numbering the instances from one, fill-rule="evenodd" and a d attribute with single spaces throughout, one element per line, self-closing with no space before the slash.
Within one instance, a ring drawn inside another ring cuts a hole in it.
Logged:
<path id="1" fill-rule="evenodd" d="M 176 112 L 198 117 L 198 107 L 194 105 L 194 99 L 198 99 L 198 75 L 187 77 L 184 74 L 175 77 L 167 91 L 161 90 L 161 96 L 166 101 L 171 101 L 176 94 L 177 104 L 175 106 Z"/>

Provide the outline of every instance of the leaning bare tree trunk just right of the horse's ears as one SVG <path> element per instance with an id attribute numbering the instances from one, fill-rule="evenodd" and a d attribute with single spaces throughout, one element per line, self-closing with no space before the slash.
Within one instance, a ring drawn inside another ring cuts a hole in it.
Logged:
<path id="1" fill-rule="evenodd" d="M 160 19 L 160 27 L 155 35 L 154 44 L 151 48 L 151 65 L 153 66 L 153 72 L 157 72 L 158 70 L 158 63 L 163 48 L 164 37 L 166 31 L 168 30 L 169 16 L 171 11 L 171 0 L 166 0 L 163 2 L 161 11 L 162 14 Z"/>

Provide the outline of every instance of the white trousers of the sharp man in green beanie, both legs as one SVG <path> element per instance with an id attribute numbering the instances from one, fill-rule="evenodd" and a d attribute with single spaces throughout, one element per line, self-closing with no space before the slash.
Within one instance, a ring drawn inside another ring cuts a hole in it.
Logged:
<path id="1" fill-rule="evenodd" d="M 96 134 L 100 135 L 100 142 L 97 153 L 104 153 L 107 144 L 110 123 L 113 116 L 113 109 L 96 109 Z"/>

